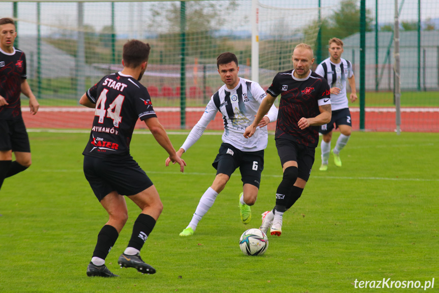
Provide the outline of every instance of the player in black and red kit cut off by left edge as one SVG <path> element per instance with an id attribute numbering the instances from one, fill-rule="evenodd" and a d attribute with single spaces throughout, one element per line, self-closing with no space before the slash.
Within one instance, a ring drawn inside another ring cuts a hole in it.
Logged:
<path id="1" fill-rule="evenodd" d="M 20 94 L 29 98 L 32 115 L 40 108 L 26 81 L 26 57 L 14 48 L 16 37 L 14 20 L 0 19 L 0 189 L 5 178 L 26 170 L 32 163 L 29 137 L 21 117 Z"/>

